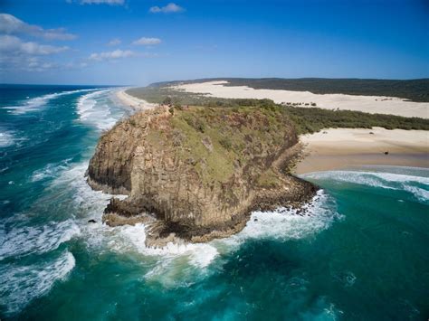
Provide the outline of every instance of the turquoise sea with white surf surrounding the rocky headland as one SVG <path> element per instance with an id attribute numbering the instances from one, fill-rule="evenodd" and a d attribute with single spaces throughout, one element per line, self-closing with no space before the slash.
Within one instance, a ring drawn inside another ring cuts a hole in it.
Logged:
<path id="1" fill-rule="evenodd" d="M 110 195 L 84 180 L 131 113 L 114 91 L 1 88 L 2 319 L 428 318 L 429 170 L 305 175 L 323 188 L 310 215 L 254 212 L 231 238 L 148 249 L 143 225 L 100 224 Z"/>

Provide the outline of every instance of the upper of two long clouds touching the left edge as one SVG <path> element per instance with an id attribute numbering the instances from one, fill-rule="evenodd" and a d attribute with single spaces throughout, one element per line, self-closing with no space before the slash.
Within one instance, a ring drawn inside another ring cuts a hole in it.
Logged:
<path id="1" fill-rule="evenodd" d="M 75 34 L 66 33 L 64 28 L 43 29 L 38 25 L 26 24 L 12 14 L 0 14 L 0 33 L 30 34 L 46 40 L 72 40 Z"/>

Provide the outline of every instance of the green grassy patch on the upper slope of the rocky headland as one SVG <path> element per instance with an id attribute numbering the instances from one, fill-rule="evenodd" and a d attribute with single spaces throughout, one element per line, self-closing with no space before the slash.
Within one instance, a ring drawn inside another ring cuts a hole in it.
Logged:
<path id="1" fill-rule="evenodd" d="M 185 137 L 181 160 L 195 165 L 205 184 L 227 183 L 237 165 L 243 167 L 253 159 L 264 159 L 267 154 L 279 151 L 287 143 L 285 137 L 293 135 L 291 122 L 281 109 L 193 106 L 176 110 L 170 119 L 173 130 Z M 207 140 L 213 147 L 205 146 L 203 142 Z M 258 171 L 265 170 L 266 164 L 260 163 Z"/>

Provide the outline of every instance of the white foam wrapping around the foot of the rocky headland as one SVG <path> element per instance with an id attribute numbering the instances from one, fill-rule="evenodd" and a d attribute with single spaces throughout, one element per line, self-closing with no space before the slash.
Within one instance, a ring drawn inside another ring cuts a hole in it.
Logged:
<path id="1" fill-rule="evenodd" d="M 129 253 L 141 256 L 146 262 L 152 262 L 152 268 L 145 274 L 145 278 L 161 282 L 166 287 L 176 286 L 177 282 L 192 282 L 195 273 L 210 272 L 210 269 L 206 268 L 220 253 L 236 249 L 243 241 L 309 237 L 328 228 L 338 216 L 335 204 L 331 203 L 329 196 L 319 192 L 307 205 L 306 216 L 286 209 L 253 212 L 243 231 L 230 238 L 201 244 L 169 243 L 164 248 L 149 248 L 145 244 L 147 231 L 144 224 L 111 228 L 101 223 L 102 212 L 112 195 L 91 189 L 84 177 L 87 168 L 88 162 L 72 165 L 63 170 L 51 185 L 52 189 L 68 189 L 74 194 L 72 211 L 76 212 L 74 222 L 81 231 L 80 239 L 85 241 L 91 250 Z M 90 218 L 97 223 L 89 224 Z M 19 244 L 19 241 L 17 243 Z"/>

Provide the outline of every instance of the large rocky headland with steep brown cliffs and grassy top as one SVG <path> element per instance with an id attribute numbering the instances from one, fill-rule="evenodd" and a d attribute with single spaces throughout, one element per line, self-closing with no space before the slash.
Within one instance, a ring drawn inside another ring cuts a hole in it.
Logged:
<path id="1" fill-rule="evenodd" d="M 297 142 L 288 118 L 276 110 L 160 107 L 100 137 L 88 181 L 129 194 L 112 199 L 108 224 L 150 222 L 154 244 L 175 237 L 208 241 L 243 229 L 254 209 L 297 204 L 314 194 L 313 185 L 282 173 Z"/>

